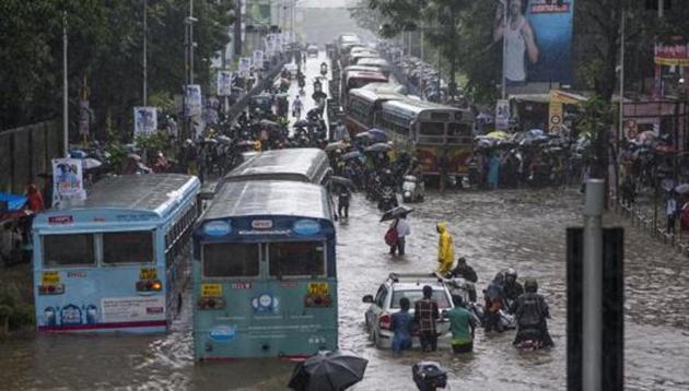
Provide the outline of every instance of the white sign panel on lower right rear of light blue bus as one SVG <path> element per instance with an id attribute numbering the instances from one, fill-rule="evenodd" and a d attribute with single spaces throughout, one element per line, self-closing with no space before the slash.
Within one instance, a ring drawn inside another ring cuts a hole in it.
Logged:
<path id="1" fill-rule="evenodd" d="M 101 307 L 106 323 L 165 319 L 164 296 L 105 297 Z"/>

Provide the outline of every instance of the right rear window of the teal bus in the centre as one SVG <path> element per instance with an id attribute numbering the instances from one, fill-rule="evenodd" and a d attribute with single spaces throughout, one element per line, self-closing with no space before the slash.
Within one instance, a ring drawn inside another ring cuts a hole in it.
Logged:
<path id="1" fill-rule="evenodd" d="M 325 274 L 325 245 L 319 241 L 270 244 L 271 276 L 315 276 Z"/>

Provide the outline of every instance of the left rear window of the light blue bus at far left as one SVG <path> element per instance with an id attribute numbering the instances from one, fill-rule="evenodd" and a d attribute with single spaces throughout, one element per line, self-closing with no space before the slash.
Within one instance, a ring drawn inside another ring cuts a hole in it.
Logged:
<path id="1" fill-rule="evenodd" d="M 43 257 L 47 268 L 95 265 L 94 237 L 91 234 L 45 235 Z"/>

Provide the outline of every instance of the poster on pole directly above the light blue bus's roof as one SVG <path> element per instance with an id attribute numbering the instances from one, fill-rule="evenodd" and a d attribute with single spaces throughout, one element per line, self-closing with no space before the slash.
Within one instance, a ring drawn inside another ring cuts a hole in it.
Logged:
<path id="1" fill-rule="evenodd" d="M 52 159 L 52 208 L 86 199 L 83 165 L 79 158 Z"/>

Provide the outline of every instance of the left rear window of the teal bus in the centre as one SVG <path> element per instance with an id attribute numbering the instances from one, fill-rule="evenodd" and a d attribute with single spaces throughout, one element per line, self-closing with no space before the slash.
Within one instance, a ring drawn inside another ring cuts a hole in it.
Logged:
<path id="1" fill-rule="evenodd" d="M 205 277 L 258 276 L 258 245 L 207 244 L 202 257 Z"/>

